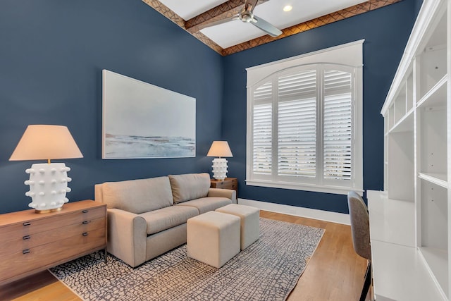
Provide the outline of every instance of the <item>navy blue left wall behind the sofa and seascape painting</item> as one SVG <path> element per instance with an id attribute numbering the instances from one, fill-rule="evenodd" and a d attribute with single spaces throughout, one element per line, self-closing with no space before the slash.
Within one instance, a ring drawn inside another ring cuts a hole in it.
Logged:
<path id="1" fill-rule="evenodd" d="M 94 183 L 210 171 L 221 138 L 222 56 L 140 0 L 2 0 L 0 213 L 28 209 L 25 169 L 8 161 L 29 124 L 67 125 L 83 159 L 69 159 L 70 201 Z M 197 156 L 101 159 L 101 70 L 197 99 Z"/>

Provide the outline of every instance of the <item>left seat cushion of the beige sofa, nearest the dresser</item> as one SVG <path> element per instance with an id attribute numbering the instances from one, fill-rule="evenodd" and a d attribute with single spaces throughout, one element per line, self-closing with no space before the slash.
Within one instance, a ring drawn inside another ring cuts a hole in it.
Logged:
<path id="1" fill-rule="evenodd" d="M 197 215 L 197 208 L 190 206 L 171 206 L 140 214 L 147 222 L 147 235 L 181 225 Z"/>

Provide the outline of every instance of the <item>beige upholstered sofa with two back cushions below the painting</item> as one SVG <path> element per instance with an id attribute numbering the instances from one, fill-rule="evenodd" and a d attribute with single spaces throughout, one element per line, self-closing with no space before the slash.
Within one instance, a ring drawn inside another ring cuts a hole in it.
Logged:
<path id="1" fill-rule="evenodd" d="M 135 267 L 186 242 L 186 221 L 236 203 L 235 190 L 210 188 L 208 173 L 95 185 L 108 208 L 108 252 Z"/>

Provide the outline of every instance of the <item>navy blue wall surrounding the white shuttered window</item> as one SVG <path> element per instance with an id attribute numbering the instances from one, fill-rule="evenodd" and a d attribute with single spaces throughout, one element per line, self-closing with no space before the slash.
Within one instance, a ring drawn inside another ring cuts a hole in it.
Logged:
<path id="1" fill-rule="evenodd" d="M 347 213 L 345 195 L 246 186 L 246 71 L 339 44 L 364 42 L 364 189 L 383 189 L 383 118 L 380 114 L 407 43 L 418 0 L 370 11 L 224 59 L 223 139 L 233 152 L 229 175 L 239 178 L 240 197 L 292 206 Z"/>

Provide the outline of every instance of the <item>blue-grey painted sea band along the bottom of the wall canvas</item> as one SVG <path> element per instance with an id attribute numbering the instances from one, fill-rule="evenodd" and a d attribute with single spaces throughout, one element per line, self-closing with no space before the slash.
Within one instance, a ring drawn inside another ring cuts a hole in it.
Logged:
<path id="1" fill-rule="evenodd" d="M 105 135 L 105 158 L 164 158 L 196 156 L 196 141 L 189 137 Z"/>

